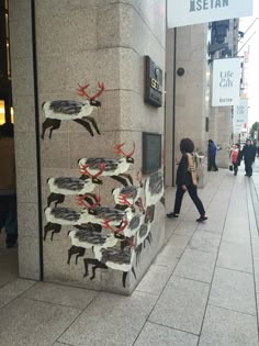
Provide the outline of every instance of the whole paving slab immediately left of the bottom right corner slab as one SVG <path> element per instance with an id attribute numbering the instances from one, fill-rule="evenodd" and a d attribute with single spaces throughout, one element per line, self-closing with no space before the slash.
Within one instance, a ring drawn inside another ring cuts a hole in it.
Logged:
<path id="1" fill-rule="evenodd" d="M 149 322 L 199 334 L 210 286 L 173 277 L 159 298 Z"/>

